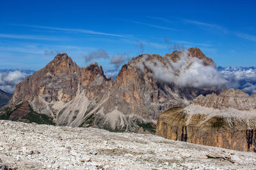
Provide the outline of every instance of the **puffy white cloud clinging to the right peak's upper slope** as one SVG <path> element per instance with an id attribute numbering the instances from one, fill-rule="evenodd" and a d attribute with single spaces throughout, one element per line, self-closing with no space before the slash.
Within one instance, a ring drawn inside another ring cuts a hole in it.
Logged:
<path id="1" fill-rule="evenodd" d="M 148 55 L 143 55 L 143 64 L 138 63 L 141 71 L 150 69 L 152 78 L 159 82 L 176 83 L 180 87 L 211 88 L 221 87 L 227 80 L 223 78 L 215 66 L 204 66 L 203 60 L 189 57 L 188 50 L 183 50 L 179 60 L 173 62 L 168 57 L 164 62 L 148 60 Z"/>

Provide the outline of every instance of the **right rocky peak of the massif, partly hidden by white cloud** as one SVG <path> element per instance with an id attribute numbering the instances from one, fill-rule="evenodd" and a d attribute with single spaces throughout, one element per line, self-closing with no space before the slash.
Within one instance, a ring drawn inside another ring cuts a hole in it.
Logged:
<path id="1" fill-rule="evenodd" d="M 168 60 L 177 61 L 182 52 L 160 55 L 140 55 L 125 64 L 111 89 L 109 99 L 104 107 L 104 113 L 115 108 L 122 113 L 140 115 L 143 118 L 157 119 L 157 115 L 173 106 L 189 104 L 200 94 L 219 92 L 218 89 L 198 89 L 195 87 L 180 87 L 175 83 L 158 81 L 152 76 L 149 64 L 161 64 L 166 67 Z M 205 65 L 214 65 L 212 59 L 207 58 L 199 48 L 189 48 L 189 57 L 203 60 Z M 142 67 L 142 68 L 141 68 Z"/>

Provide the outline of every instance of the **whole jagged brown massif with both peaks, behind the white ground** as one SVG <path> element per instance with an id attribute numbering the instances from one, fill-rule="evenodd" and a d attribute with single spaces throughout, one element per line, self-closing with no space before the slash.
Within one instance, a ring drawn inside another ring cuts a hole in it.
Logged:
<path id="1" fill-rule="evenodd" d="M 201 68 L 215 68 L 214 62 L 199 48 L 189 48 L 186 53 L 175 51 L 164 57 L 139 55 L 125 64 L 113 81 L 105 76 L 97 63 L 78 67 L 67 53 L 59 53 L 47 66 L 16 86 L 12 100 L 0 115 L 9 115 L 6 117 L 10 119 L 10 113 L 17 106 L 28 102 L 33 112 L 51 117 L 56 125 L 132 132 L 142 127 L 144 131 L 154 133 L 157 115 L 162 111 L 189 104 L 200 94 L 220 92 L 220 89 L 210 87 L 208 81 L 209 87 L 202 88 L 197 78 L 191 80 L 196 80 L 195 85 L 192 82 L 194 87 L 183 81 L 180 87 L 164 77 L 168 76 L 171 65 L 176 69 L 177 64 L 184 68 L 184 54 L 189 61 L 185 64 L 188 67 L 201 64 Z M 179 60 L 182 60 L 181 64 Z M 155 67 L 156 64 L 160 67 Z M 167 73 L 161 76 L 164 80 L 157 76 L 156 69 L 159 68 Z M 173 74 L 179 73 L 180 70 L 173 70 Z"/>

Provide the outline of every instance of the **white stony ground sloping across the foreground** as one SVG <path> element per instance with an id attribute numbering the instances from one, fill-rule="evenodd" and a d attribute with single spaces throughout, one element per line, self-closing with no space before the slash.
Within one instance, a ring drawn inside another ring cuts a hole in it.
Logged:
<path id="1" fill-rule="evenodd" d="M 0 121 L 0 158 L 0 167 L 17 169 L 256 169 L 256 153 L 152 134 L 5 120 Z"/>

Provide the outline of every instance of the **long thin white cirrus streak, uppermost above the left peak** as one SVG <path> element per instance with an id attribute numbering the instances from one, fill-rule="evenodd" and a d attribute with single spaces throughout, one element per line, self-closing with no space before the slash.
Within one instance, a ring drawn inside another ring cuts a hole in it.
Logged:
<path id="1" fill-rule="evenodd" d="M 40 25 L 26 25 L 26 24 L 12 24 L 17 26 L 24 26 L 24 27 L 34 27 L 40 29 L 50 29 L 50 30 L 57 30 L 57 31 L 68 31 L 68 32 L 76 32 L 81 34 L 94 34 L 94 35 L 101 35 L 101 36 L 115 36 L 115 37 L 125 37 L 119 34 L 110 34 L 106 32 L 97 32 L 88 29 L 68 29 L 68 28 L 61 28 L 61 27 L 47 27 L 47 26 L 40 26 Z"/>

